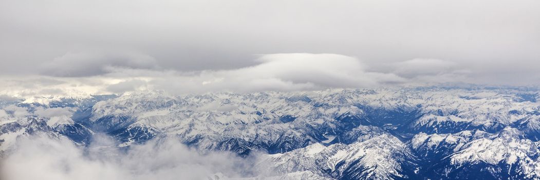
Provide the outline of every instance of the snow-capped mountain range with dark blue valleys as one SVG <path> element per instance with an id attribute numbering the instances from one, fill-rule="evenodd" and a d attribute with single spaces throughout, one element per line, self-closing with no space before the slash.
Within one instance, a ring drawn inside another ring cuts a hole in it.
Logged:
<path id="1" fill-rule="evenodd" d="M 0 151 L 9 155 L 18 137 L 37 133 L 83 148 L 107 134 L 120 149 L 175 138 L 201 153 L 264 154 L 257 165 L 274 172 L 268 179 L 540 179 L 539 92 L 420 87 L 9 98 L 0 99 Z M 249 178 L 259 177 L 241 179 Z"/>

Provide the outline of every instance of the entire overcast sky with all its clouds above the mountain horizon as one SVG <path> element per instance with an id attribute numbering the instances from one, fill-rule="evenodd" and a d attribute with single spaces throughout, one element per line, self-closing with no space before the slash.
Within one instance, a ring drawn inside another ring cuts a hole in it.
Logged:
<path id="1" fill-rule="evenodd" d="M 0 26 L 11 94 L 540 82 L 540 1 L 0 0 Z"/>

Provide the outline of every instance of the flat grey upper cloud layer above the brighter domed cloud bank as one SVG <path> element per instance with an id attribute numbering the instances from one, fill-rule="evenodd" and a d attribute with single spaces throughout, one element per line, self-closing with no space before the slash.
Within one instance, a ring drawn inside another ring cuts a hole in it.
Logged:
<path id="1" fill-rule="evenodd" d="M 520 83 L 532 83 L 540 66 L 539 8 L 532 0 L 5 0 L 0 73 L 89 76 L 110 72 L 107 65 L 238 69 L 256 65 L 255 54 L 307 52 L 357 57 L 370 68 L 444 59 L 483 81 L 525 76 Z"/>

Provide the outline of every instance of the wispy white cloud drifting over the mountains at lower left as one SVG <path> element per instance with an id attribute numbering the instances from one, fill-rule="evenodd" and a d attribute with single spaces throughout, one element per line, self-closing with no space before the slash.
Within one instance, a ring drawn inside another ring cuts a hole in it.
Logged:
<path id="1" fill-rule="evenodd" d="M 0 178 L 17 179 L 212 179 L 253 176 L 252 161 L 228 152 L 200 154 L 179 141 L 151 141 L 127 151 L 95 138 L 88 150 L 68 139 L 21 138 L 0 161 Z M 211 177 L 211 178 L 209 178 Z"/>

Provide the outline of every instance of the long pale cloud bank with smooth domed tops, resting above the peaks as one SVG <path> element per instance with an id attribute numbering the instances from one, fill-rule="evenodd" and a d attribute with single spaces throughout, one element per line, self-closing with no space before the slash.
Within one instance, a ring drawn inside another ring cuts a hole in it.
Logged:
<path id="1" fill-rule="evenodd" d="M 440 59 L 411 59 L 389 63 L 376 68 L 378 71 L 370 71 L 372 68 L 357 58 L 336 54 L 271 54 L 261 55 L 255 62 L 259 64 L 231 70 L 183 72 L 124 66 L 111 67 L 107 74 L 91 77 L 7 78 L 0 79 L 4 84 L 0 94 L 21 98 L 122 94 L 137 90 L 166 90 L 172 94 L 188 94 L 471 82 L 467 69 Z M 46 82 L 44 79 L 56 81 L 30 89 L 24 85 L 34 81 Z"/>

